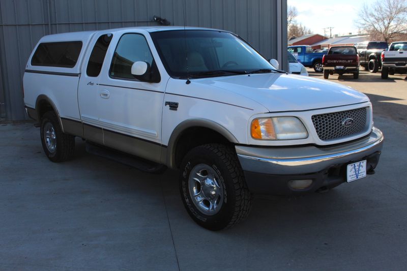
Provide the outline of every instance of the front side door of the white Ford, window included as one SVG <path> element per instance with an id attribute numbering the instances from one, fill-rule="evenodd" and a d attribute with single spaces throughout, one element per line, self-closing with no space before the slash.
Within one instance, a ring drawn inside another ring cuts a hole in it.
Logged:
<path id="1" fill-rule="evenodd" d="M 166 82 L 142 82 L 131 74 L 137 61 L 155 67 L 146 37 L 125 33 L 116 38 L 119 41 L 109 49 L 111 61 L 103 67 L 99 81 L 97 104 L 104 145 L 159 162 Z"/>

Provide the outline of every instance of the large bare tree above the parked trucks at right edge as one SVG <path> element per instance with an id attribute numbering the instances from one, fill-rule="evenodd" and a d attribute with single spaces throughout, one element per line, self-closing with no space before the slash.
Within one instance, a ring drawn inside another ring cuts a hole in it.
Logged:
<path id="1" fill-rule="evenodd" d="M 406 17 L 406 0 L 377 0 L 363 4 L 356 23 L 372 38 L 390 42 L 400 34 L 407 33 Z"/>

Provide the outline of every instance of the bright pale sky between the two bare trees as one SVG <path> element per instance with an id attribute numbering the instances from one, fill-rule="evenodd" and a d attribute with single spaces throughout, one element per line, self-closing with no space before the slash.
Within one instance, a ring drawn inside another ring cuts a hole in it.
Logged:
<path id="1" fill-rule="evenodd" d="M 321 35 L 324 35 L 324 27 L 334 27 L 332 36 L 351 32 L 358 34 L 355 20 L 363 3 L 371 3 L 371 0 L 287 0 L 288 6 L 294 6 L 298 10 L 297 23 L 302 23 L 314 34 Z M 326 30 L 326 35 L 329 37 L 329 29 Z"/>

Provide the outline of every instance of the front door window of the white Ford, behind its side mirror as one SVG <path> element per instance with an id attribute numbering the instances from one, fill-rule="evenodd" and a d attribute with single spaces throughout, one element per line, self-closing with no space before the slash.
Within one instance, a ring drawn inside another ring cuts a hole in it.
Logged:
<path id="1" fill-rule="evenodd" d="M 115 78 L 136 80 L 131 74 L 131 66 L 137 61 L 153 66 L 153 55 L 146 38 L 140 34 L 124 34 L 111 61 L 109 75 Z"/>

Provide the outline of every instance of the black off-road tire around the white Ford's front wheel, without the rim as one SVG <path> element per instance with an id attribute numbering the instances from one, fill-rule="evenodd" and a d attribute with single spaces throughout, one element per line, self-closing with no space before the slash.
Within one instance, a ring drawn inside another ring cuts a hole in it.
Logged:
<path id="1" fill-rule="evenodd" d="M 223 187 L 223 201 L 218 213 L 207 215 L 199 210 L 189 190 L 191 170 L 199 164 L 214 169 Z M 233 148 L 222 144 L 205 144 L 193 148 L 184 157 L 180 170 L 181 198 L 191 218 L 209 230 L 230 228 L 244 220 L 250 212 L 252 195 Z"/>

